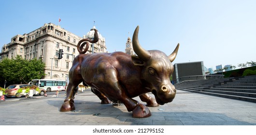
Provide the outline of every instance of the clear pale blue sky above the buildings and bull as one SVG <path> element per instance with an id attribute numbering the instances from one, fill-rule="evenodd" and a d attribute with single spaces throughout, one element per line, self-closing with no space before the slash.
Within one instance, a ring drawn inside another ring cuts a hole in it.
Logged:
<path id="1" fill-rule="evenodd" d="M 54 23 L 82 37 L 95 26 L 108 52 L 125 50 L 139 25 L 144 49 L 173 63 L 203 61 L 207 68 L 256 62 L 256 0 L 3 0 L 0 47 L 17 34 Z M 237 68 L 239 68 L 237 66 Z"/>

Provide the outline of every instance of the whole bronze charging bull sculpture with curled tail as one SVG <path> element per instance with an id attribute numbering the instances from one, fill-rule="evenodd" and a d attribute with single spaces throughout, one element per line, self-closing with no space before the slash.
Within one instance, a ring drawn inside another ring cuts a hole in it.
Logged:
<path id="1" fill-rule="evenodd" d="M 88 41 L 98 41 L 96 29 L 94 40 L 79 41 L 77 49 L 80 54 L 75 57 L 70 69 L 67 96 L 60 111 L 75 109 L 73 99 L 77 92 L 76 87 L 81 82 L 91 87 L 92 92 L 100 98 L 101 104 L 120 101 L 129 112 L 132 111 L 134 118 L 151 116 L 146 106 L 157 107 L 171 102 L 176 94 L 170 81 L 173 72 L 171 62 L 177 55 L 179 44 L 169 56 L 158 50 L 146 51 L 139 43 L 138 33 L 139 26 L 132 37 L 133 49 L 137 55 L 123 52 L 85 54 L 89 47 Z M 85 44 L 85 50 L 82 51 Z M 150 97 L 147 94 L 149 92 L 156 99 Z M 146 102 L 146 106 L 132 99 L 136 96 Z"/>

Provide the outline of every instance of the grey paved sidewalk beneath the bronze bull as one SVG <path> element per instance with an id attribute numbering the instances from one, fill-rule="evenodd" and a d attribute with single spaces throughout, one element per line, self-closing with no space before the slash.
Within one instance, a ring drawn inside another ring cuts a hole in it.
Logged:
<path id="1" fill-rule="evenodd" d="M 171 103 L 149 108 L 152 116 L 143 119 L 132 118 L 123 104 L 101 105 L 91 92 L 75 96 L 75 111 L 59 112 L 64 99 L 1 102 L 0 114 L 5 115 L 0 125 L 256 125 L 255 103 L 180 90 Z"/>

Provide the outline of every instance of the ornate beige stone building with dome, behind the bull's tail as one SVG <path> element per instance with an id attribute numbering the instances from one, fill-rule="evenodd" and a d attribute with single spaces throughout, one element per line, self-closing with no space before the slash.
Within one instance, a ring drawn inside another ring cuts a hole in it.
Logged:
<path id="1" fill-rule="evenodd" d="M 95 28 L 95 26 L 93 27 Z M 91 29 L 84 38 L 93 38 L 94 30 Z M 99 34 L 99 41 L 90 44 L 87 54 L 103 53 L 106 51 L 105 39 Z M 45 76 L 43 79 L 66 80 L 72 61 L 76 55 L 77 43 L 82 38 L 67 31 L 60 26 L 49 23 L 35 29 L 28 34 L 16 35 L 11 42 L 2 47 L 0 60 L 4 57 L 9 59 L 20 55 L 30 60 L 33 58 L 42 59 L 45 63 Z M 94 48 L 92 48 L 94 46 Z M 59 49 L 63 49 L 63 58 L 58 59 Z"/>

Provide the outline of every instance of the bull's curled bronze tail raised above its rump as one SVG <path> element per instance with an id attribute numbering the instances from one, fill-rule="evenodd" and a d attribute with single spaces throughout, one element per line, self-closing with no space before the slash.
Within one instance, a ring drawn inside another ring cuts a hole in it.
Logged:
<path id="1" fill-rule="evenodd" d="M 99 37 L 98 37 L 98 30 L 97 29 L 94 29 L 94 38 L 92 40 L 90 39 L 83 39 L 83 40 L 80 40 L 78 43 L 77 43 L 77 50 L 79 52 L 79 54 L 85 54 L 89 48 L 89 42 L 90 43 L 96 43 L 98 42 L 99 40 Z M 82 43 L 82 44 L 81 44 Z M 85 46 L 86 44 L 86 46 Z M 83 51 L 83 48 L 85 46 L 85 50 Z"/>

